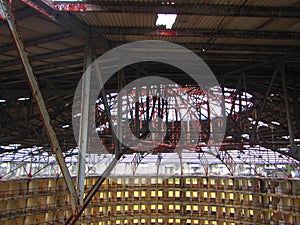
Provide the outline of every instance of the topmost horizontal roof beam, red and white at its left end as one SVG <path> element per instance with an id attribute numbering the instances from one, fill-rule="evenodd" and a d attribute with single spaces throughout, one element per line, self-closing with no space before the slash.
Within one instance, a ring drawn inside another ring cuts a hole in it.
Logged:
<path id="1" fill-rule="evenodd" d="M 244 16 L 262 18 L 300 18 L 299 7 L 267 7 L 247 5 L 184 4 L 170 2 L 111 2 L 83 1 L 78 4 L 54 2 L 57 11 L 84 11 L 101 13 L 147 13 L 198 16 Z"/>

